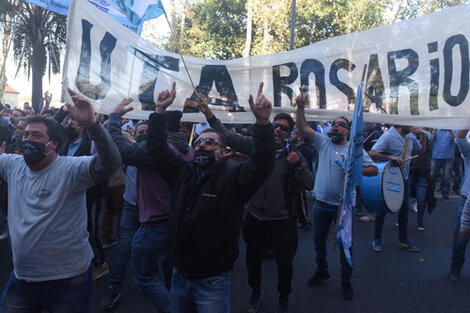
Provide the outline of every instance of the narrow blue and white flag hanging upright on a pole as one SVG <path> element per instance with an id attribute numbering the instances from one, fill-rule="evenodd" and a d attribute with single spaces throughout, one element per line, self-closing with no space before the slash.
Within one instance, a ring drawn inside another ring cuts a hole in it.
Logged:
<path id="1" fill-rule="evenodd" d="M 352 119 L 351 135 L 349 142 L 348 157 L 344 162 L 346 177 L 343 190 L 343 206 L 338 224 L 338 232 L 336 240 L 338 245 L 342 245 L 344 254 L 351 267 L 352 258 L 349 249 L 352 246 L 352 222 L 353 208 L 355 202 L 355 186 L 361 185 L 362 181 L 362 153 L 364 141 L 364 124 L 363 124 L 363 105 L 362 105 L 362 87 L 357 87 L 356 104 L 354 107 L 354 115 Z"/>

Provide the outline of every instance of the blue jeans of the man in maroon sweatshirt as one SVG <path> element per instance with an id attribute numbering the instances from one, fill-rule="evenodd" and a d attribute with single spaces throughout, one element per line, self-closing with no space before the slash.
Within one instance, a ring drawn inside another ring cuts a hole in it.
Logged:
<path id="1" fill-rule="evenodd" d="M 164 283 L 171 280 L 167 232 L 168 226 L 142 225 L 132 240 L 132 278 L 160 312 L 170 312 L 170 293 Z"/>

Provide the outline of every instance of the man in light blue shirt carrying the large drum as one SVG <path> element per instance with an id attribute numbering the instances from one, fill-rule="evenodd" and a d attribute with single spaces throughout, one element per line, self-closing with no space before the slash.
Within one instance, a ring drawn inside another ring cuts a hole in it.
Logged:
<path id="1" fill-rule="evenodd" d="M 422 145 L 418 142 L 415 135 L 411 133 L 421 133 L 420 140 L 424 141 L 426 135 L 422 133 L 421 128 L 411 128 L 410 126 L 393 126 L 384 133 L 374 144 L 369 154 L 376 162 L 392 161 L 397 165 L 402 165 L 404 159 L 411 157 L 412 153 L 421 150 Z M 405 149 L 406 147 L 406 149 Z M 406 150 L 406 155 L 405 154 Z M 405 199 L 398 212 L 398 246 L 402 249 L 419 252 L 408 240 L 408 207 L 410 199 L 410 179 L 409 179 L 410 162 L 405 162 L 403 166 L 403 178 L 405 180 Z M 382 252 L 382 230 L 387 210 L 377 212 L 375 217 L 375 232 L 372 249 L 376 252 Z"/>

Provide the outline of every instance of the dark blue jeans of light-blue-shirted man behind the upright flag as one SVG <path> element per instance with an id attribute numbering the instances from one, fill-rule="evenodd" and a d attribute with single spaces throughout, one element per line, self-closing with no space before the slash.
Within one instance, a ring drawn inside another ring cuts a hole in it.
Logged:
<path id="1" fill-rule="evenodd" d="M 317 271 L 328 271 L 328 262 L 326 261 L 326 241 L 331 224 L 336 223 L 338 215 L 338 206 L 327 205 L 326 203 L 316 202 L 313 206 L 313 241 L 315 251 L 317 252 L 316 262 Z M 349 265 L 344 255 L 344 249 L 340 246 L 341 261 L 341 279 L 343 282 L 350 282 L 352 276 L 352 267 Z M 349 252 L 352 256 L 352 247 Z"/>

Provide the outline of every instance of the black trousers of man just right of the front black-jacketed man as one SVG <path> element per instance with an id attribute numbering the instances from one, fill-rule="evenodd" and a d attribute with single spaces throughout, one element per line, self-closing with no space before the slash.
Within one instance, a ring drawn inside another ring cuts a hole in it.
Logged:
<path id="1" fill-rule="evenodd" d="M 273 248 L 277 265 L 277 290 L 281 299 L 292 291 L 292 260 L 297 252 L 297 227 L 295 219 L 259 221 L 247 213 L 243 225 L 246 242 L 248 284 L 253 290 L 261 288 L 261 262 L 268 248 Z"/>

